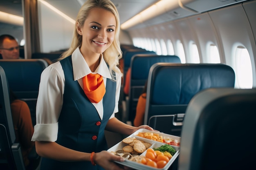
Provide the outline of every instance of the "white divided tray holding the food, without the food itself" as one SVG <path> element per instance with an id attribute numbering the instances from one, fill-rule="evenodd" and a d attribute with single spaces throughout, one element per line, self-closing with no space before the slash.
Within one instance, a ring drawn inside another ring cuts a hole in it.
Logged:
<path id="1" fill-rule="evenodd" d="M 180 137 L 177 136 L 173 136 L 173 135 L 168 135 L 168 134 L 164 134 L 161 132 L 155 132 L 155 131 L 150 131 L 150 130 L 146 130 L 146 129 L 139 129 L 137 130 L 135 133 L 133 133 L 132 135 L 128 136 L 128 137 L 135 137 L 138 140 L 141 141 L 145 141 L 147 143 L 152 144 L 152 146 L 150 146 L 150 148 L 158 148 L 162 145 L 164 145 L 164 143 L 162 142 L 158 142 L 158 141 L 153 141 L 150 139 L 146 139 L 143 137 L 138 137 L 136 136 L 139 132 L 153 132 L 153 133 L 157 133 L 159 135 L 162 135 L 163 137 L 171 137 L 172 139 L 176 139 L 178 141 L 180 141 Z M 124 146 L 126 146 L 127 144 L 125 144 L 124 142 L 120 141 L 118 144 L 116 144 L 115 146 L 112 146 L 111 148 L 108 149 L 109 152 L 116 152 L 117 150 L 122 150 L 122 148 Z M 172 146 L 172 145 L 171 145 Z M 180 153 L 180 147 L 179 146 L 172 146 L 177 152 L 173 155 L 173 157 L 168 161 L 168 163 L 166 164 L 166 166 L 164 166 L 164 168 L 153 168 L 147 165 L 144 165 L 142 163 L 137 163 L 135 161 L 130 161 L 128 159 L 125 159 L 125 161 L 123 162 L 119 162 L 119 161 L 115 161 L 121 165 L 133 168 L 133 169 L 137 169 L 137 170 L 167 170 L 171 164 L 175 161 L 175 159 L 177 158 L 177 156 Z M 141 156 L 145 156 L 146 155 L 146 151 L 141 153 Z"/>

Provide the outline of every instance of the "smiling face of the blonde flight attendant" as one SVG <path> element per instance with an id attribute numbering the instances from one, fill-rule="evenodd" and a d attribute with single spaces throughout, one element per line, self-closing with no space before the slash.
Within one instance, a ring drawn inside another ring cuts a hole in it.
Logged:
<path id="1" fill-rule="evenodd" d="M 106 9 L 92 8 L 83 26 L 80 28 L 77 24 L 76 29 L 82 36 L 83 55 L 103 53 L 115 38 L 115 15 Z"/>

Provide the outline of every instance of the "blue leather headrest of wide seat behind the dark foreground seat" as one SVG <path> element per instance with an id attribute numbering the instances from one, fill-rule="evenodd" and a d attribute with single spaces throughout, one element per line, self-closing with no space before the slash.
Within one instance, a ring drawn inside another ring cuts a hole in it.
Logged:
<path id="1" fill-rule="evenodd" d="M 151 104 L 189 104 L 205 88 L 234 88 L 235 84 L 234 70 L 225 64 L 158 63 L 151 69 Z"/>

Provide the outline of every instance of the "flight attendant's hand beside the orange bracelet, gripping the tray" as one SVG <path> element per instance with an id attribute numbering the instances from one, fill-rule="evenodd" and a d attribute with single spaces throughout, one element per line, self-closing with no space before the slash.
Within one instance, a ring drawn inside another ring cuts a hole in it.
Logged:
<path id="1" fill-rule="evenodd" d="M 115 163 L 114 161 L 124 161 L 123 157 L 113 155 L 112 153 L 103 150 L 101 152 L 94 153 L 93 156 L 94 163 L 101 166 L 105 170 L 124 170 L 124 168 L 121 168 L 123 166 L 120 166 L 118 163 Z"/>

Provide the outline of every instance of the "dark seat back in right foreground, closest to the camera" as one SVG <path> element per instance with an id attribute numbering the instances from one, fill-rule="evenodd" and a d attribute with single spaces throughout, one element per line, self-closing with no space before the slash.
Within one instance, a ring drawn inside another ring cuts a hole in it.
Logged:
<path id="1" fill-rule="evenodd" d="M 209 88 L 189 102 L 178 170 L 256 169 L 256 88 Z"/>

